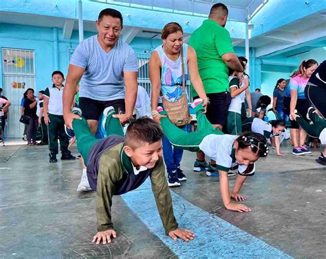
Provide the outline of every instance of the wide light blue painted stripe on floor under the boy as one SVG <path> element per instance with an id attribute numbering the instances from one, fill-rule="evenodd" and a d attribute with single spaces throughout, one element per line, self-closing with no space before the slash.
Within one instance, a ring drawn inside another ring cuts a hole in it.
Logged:
<path id="1" fill-rule="evenodd" d="M 191 242 L 174 241 L 166 236 L 149 180 L 137 190 L 122 195 L 122 199 L 149 231 L 180 258 L 291 258 L 235 225 L 194 206 L 180 195 L 171 192 L 171 196 L 180 227 L 193 230 L 196 234 Z"/>

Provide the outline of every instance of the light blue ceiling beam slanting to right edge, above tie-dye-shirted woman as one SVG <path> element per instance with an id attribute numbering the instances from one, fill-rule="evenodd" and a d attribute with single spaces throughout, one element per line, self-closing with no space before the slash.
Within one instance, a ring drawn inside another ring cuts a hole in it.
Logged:
<path id="1" fill-rule="evenodd" d="M 256 49 L 256 58 L 265 57 L 265 56 L 274 56 L 286 51 L 290 51 L 295 48 L 297 45 L 305 46 L 311 45 L 311 42 L 314 40 L 323 40 L 326 38 L 326 29 L 325 24 L 312 27 L 309 30 L 296 34 L 295 42 L 290 44 L 288 43 L 278 43 L 278 44 L 268 44 L 262 47 L 257 47 Z"/>

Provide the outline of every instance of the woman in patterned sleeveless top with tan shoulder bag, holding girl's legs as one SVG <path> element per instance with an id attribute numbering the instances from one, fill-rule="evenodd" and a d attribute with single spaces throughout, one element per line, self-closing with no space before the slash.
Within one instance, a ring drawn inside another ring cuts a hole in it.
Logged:
<path id="1" fill-rule="evenodd" d="M 182 27 L 178 23 L 166 24 L 162 30 L 162 40 L 163 45 L 153 51 L 149 60 L 149 77 L 152 84 L 151 108 L 153 119 L 157 122 L 160 122 L 162 117 L 156 111 L 160 94 L 162 94 L 162 99 L 171 103 L 171 106 L 173 103 L 179 106 L 184 99 L 182 106 L 185 109 L 184 114 L 188 112 L 188 101 L 183 89 L 188 75 L 191 75 L 191 82 L 196 94 L 204 99 L 204 106 L 208 104 L 202 79 L 198 73 L 196 53 L 192 47 L 183 42 Z M 163 106 L 166 109 L 164 102 Z M 175 108 L 175 110 L 177 109 L 179 108 Z M 186 130 L 185 127 L 183 130 Z M 169 186 L 180 186 L 180 181 L 186 180 L 186 176 L 180 169 L 182 153 L 182 149 L 172 147 L 168 138 L 164 137 L 163 154 L 166 171 L 169 175 Z"/>

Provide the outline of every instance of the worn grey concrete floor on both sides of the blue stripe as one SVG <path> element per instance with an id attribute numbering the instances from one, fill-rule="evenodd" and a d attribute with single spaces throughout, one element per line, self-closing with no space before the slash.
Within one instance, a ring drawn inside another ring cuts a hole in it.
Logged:
<path id="1" fill-rule="evenodd" d="M 222 206 L 218 179 L 192 171 L 194 153 L 186 152 L 182 160 L 188 180 L 171 190 L 289 256 L 323 258 L 326 167 L 314 161 L 318 152 L 296 157 L 290 147 L 283 150 L 284 158 L 272 151 L 261 159 L 257 173 L 243 186 L 250 213 Z M 72 151 L 76 154 L 76 147 Z M 91 243 L 96 193 L 76 192 L 80 173 L 78 160 L 50 164 L 47 147 L 1 147 L 0 258 L 177 257 L 121 197 L 113 198 L 112 208 L 118 238 L 110 245 Z M 196 234 L 200 239 L 204 233 Z"/>

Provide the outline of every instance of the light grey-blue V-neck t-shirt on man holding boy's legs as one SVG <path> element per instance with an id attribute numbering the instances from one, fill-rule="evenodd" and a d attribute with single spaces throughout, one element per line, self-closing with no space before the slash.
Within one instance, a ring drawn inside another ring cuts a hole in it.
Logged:
<path id="1" fill-rule="evenodd" d="M 124 99 L 123 71 L 138 71 L 135 51 L 122 40 L 106 53 L 98 43 L 97 35 L 81 42 L 70 64 L 85 68 L 79 97 L 98 101 Z"/>

